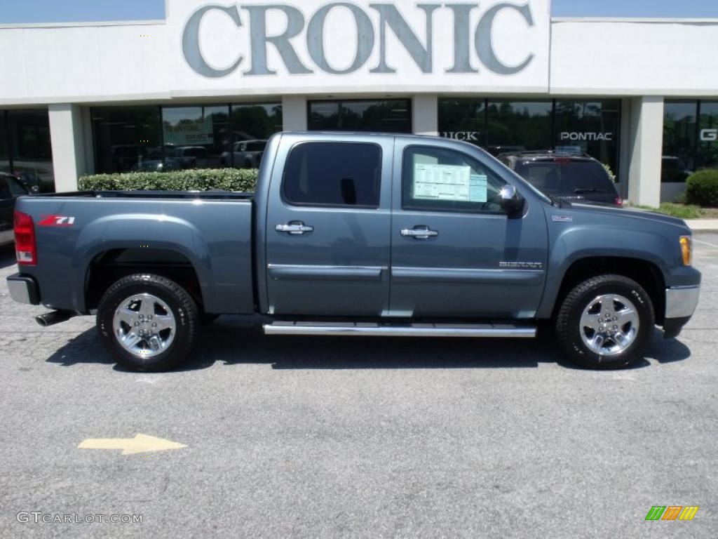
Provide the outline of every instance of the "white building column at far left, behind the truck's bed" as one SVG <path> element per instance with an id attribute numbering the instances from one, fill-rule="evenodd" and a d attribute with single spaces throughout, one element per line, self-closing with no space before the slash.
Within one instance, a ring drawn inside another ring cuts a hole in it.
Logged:
<path id="1" fill-rule="evenodd" d="M 47 109 L 55 190 L 58 193 L 76 191 L 78 178 L 86 172 L 82 111 L 78 105 L 70 103 L 50 105 Z"/>

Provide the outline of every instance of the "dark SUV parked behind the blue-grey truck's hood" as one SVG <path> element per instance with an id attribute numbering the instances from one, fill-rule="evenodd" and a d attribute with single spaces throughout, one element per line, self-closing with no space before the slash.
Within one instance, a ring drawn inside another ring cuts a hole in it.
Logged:
<path id="1" fill-rule="evenodd" d="M 587 154 L 546 150 L 503 153 L 498 159 L 546 195 L 570 202 L 623 207 L 606 169 Z"/>

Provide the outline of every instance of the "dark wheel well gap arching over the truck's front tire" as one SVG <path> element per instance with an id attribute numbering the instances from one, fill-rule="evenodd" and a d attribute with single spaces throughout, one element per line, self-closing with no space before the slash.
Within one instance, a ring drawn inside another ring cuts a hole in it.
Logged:
<path id="1" fill-rule="evenodd" d="M 666 313 L 666 282 L 663 280 L 663 273 L 653 262 L 624 257 L 590 257 L 571 264 L 561 282 L 561 289 L 554 305 L 554 317 L 561 308 L 563 299 L 579 282 L 607 273 L 623 275 L 638 282 L 651 296 L 656 323 L 659 325 L 663 323 Z"/>

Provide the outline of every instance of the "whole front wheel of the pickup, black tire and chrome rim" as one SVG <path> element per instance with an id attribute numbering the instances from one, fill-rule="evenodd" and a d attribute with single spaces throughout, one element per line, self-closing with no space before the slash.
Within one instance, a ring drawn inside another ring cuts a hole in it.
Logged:
<path id="1" fill-rule="evenodd" d="M 653 303 L 638 282 L 599 275 L 574 287 L 556 318 L 556 336 L 572 361 L 621 369 L 640 360 L 655 323 Z"/>

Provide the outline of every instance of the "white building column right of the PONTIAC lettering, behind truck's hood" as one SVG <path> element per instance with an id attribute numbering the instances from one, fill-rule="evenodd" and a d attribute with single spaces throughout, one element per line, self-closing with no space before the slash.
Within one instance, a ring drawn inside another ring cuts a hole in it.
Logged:
<path id="1" fill-rule="evenodd" d="M 658 207 L 661 203 L 663 98 L 631 99 L 628 153 L 628 201 Z"/>

